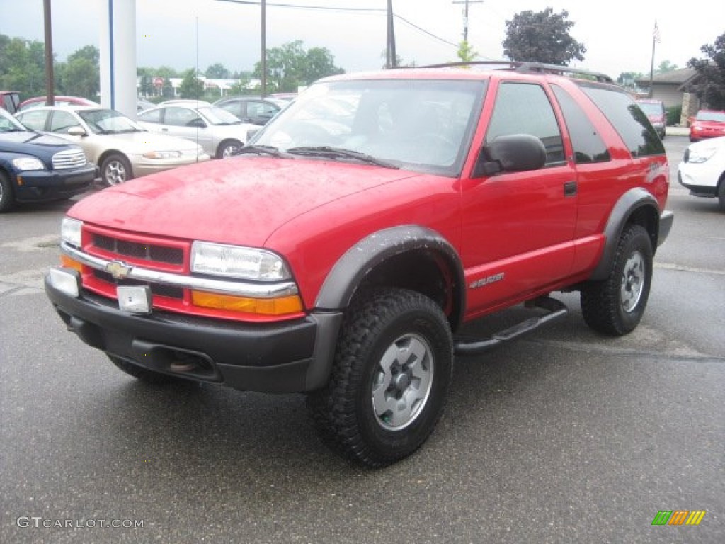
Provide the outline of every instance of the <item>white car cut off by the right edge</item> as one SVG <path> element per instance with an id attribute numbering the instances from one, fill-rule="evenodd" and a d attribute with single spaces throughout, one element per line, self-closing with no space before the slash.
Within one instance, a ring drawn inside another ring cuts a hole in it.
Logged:
<path id="1" fill-rule="evenodd" d="M 694 197 L 717 198 L 725 211 L 725 136 L 690 144 L 677 168 L 677 181 Z"/>

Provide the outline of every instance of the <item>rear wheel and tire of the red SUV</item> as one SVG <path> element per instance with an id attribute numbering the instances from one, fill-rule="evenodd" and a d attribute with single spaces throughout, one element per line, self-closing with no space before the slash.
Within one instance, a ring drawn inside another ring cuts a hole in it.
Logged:
<path id="1" fill-rule="evenodd" d="M 581 313 L 592 329 L 623 336 L 637 328 L 645 314 L 652 285 L 653 249 L 640 225 L 624 228 L 609 276 L 581 289 Z"/>

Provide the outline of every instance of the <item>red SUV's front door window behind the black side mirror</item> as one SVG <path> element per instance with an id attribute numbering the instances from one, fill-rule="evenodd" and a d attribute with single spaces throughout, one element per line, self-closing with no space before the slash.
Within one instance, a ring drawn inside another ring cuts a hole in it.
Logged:
<path id="1" fill-rule="evenodd" d="M 486 142 L 508 134 L 537 136 L 546 147 L 547 165 L 566 160 L 554 110 L 540 85 L 509 82 L 499 86 Z"/>

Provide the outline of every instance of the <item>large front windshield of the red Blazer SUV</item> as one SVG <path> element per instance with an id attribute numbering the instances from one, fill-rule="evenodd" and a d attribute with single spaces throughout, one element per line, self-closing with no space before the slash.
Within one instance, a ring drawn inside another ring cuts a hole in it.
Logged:
<path id="1" fill-rule="evenodd" d="M 458 176 L 479 118 L 485 81 L 318 83 L 252 140 L 291 154 L 354 154 L 418 172 Z M 370 162 L 370 160 L 368 160 Z"/>

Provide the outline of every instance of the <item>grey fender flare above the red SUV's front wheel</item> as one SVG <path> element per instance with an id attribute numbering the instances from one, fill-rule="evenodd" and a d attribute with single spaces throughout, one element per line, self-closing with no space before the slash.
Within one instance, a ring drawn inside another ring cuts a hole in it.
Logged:
<path id="1" fill-rule="evenodd" d="M 385 228 L 365 236 L 350 247 L 328 273 L 315 300 L 315 308 L 320 310 L 347 308 L 357 287 L 377 265 L 395 255 L 420 250 L 438 252 L 450 265 L 458 295 L 458 300 L 454 301 L 458 313 L 450 318 L 453 322 L 460 323 L 465 308 L 465 278 L 460 256 L 441 234 L 419 225 Z"/>

